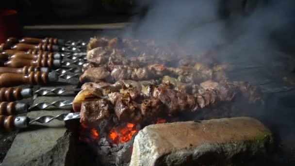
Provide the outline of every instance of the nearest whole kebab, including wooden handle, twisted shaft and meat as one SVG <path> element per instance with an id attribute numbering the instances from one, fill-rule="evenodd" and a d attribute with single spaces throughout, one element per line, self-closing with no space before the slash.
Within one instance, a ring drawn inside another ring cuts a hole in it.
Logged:
<path id="1" fill-rule="evenodd" d="M 232 85 L 224 83 L 215 89 L 206 89 L 194 96 L 173 89 L 148 85 L 143 90 L 148 98 L 141 99 L 132 89 L 122 93 L 110 93 L 109 99 L 97 98 L 82 103 L 81 113 L 61 114 L 58 116 L 41 116 L 36 119 L 28 116 L 0 116 L 0 131 L 12 131 L 17 128 L 27 128 L 33 122 L 48 123 L 53 119 L 69 120 L 81 118 L 88 126 L 96 126 L 102 120 L 116 116 L 120 121 L 145 121 L 163 114 L 195 112 L 199 108 L 210 106 L 217 101 L 231 101 L 236 95 Z M 132 94 L 132 92 L 134 92 Z M 177 99 L 178 98 L 178 99 Z M 163 111 L 166 110 L 166 111 Z M 1 130 L 2 129 L 2 130 Z"/>

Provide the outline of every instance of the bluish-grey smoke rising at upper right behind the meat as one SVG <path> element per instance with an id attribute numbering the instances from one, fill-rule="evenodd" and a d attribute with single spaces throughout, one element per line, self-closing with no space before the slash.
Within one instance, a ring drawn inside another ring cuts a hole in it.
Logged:
<path id="1" fill-rule="evenodd" d="M 145 13 L 133 18 L 124 35 L 174 41 L 197 53 L 216 50 L 221 61 L 263 63 L 276 54 L 270 37 L 292 21 L 292 4 L 294 0 L 139 0 Z"/>

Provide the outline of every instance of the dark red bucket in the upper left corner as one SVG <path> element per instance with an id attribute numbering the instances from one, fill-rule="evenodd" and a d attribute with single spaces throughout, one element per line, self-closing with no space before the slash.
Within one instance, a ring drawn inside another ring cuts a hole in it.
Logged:
<path id="1" fill-rule="evenodd" d="M 22 37 L 22 27 L 16 10 L 0 10 L 0 43 L 8 37 Z"/>

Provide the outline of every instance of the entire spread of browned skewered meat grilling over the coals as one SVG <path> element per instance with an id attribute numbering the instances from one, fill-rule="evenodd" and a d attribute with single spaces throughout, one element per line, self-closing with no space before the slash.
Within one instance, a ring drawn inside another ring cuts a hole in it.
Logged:
<path id="1" fill-rule="evenodd" d="M 87 60 L 80 77 L 82 91 L 73 107 L 81 110 L 81 122 L 90 126 L 111 117 L 142 123 L 194 113 L 237 95 L 249 102 L 262 100 L 258 87 L 229 81 L 226 72 L 231 65 L 177 45 L 96 37 L 88 45 Z"/>

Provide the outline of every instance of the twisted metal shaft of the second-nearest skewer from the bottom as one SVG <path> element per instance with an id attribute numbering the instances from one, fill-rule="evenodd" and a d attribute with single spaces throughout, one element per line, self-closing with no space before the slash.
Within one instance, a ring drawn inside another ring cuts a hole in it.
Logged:
<path id="1" fill-rule="evenodd" d="M 54 102 L 40 102 L 32 105 L 29 107 L 29 110 L 32 109 L 39 109 L 39 110 L 44 110 L 50 106 L 53 106 L 55 108 L 62 108 L 64 106 L 69 106 L 73 104 L 73 100 L 59 100 L 59 101 L 54 101 Z"/>

